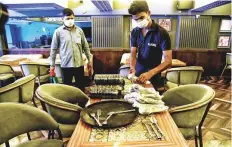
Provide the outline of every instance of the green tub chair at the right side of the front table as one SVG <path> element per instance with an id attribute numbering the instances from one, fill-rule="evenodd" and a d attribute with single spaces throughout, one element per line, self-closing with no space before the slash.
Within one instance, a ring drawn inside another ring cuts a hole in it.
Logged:
<path id="1" fill-rule="evenodd" d="M 163 94 L 163 101 L 170 106 L 171 114 L 176 125 L 186 139 L 195 136 L 202 143 L 201 127 L 210 108 L 215 91 L 202 84 L 188 84 L 169 89 Z M 197 131 L 198 128 L 198 131 Z"/>

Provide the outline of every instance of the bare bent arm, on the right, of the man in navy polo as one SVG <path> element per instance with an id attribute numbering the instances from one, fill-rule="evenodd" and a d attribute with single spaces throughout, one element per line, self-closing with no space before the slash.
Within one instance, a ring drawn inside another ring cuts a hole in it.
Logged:
<path id="1" fill-rule="evenodd" d="M 158 65 L 157 67 L 145 72 L 139 76 L 138 81 L 145 83 L 146 81 L 150 80 L 151 77 L 154 75 L 162 72 L 163 70 L 167 69 L 168 67 L 172 66 L 172 50 L 165 50 L 163 51 L 164 62 Z"/>

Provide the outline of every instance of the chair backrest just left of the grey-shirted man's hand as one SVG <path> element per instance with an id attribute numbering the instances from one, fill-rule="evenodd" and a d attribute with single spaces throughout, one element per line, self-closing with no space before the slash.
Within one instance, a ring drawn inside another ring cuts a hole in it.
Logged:
<path id="1" fill-rule="evenodd" d="M 49 75 L 50 65 L 48 63 L 25 62 L 20 63 L 24 76 L 34 74 L 36 77 Z"/>

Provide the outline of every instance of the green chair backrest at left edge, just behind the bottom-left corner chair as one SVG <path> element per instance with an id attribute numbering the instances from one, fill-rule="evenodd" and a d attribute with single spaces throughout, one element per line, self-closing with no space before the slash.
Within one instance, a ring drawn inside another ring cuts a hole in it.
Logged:
<path id="1" fill-rule="evenodd" d="M 32 100 L 35 90 L 35 76 L 29 75 L 16 80 L 14 83 L 0 88 L 1 102 L 26 103 Z"/>

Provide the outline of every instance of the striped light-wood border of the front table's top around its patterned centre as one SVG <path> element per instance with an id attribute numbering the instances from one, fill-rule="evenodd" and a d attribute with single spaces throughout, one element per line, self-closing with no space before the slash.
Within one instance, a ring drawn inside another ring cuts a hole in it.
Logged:
<path id="1" fill-rule="evenodd" d="M 91 103 L 95 102 L 91 100 Z M 127 142 L 89 142 L 92 128 L 79 120 L 67 147 L 187 147 L 187 143 L 168 111 L 153 115 L 162 129 L 165 140 Z"/>

